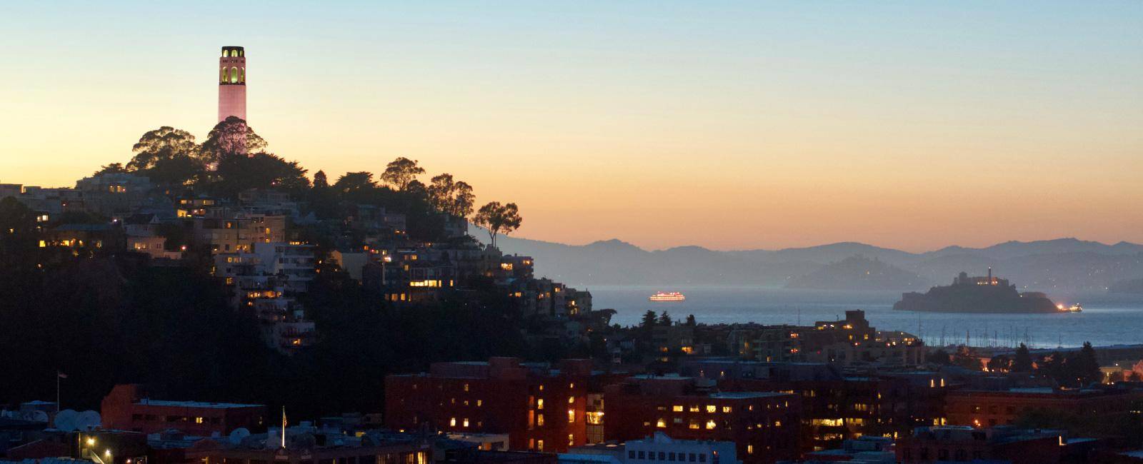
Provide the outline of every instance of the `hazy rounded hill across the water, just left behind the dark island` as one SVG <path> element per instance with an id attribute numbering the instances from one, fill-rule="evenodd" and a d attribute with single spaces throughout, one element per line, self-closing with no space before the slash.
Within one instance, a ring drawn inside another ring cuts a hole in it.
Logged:
<path id="1" fill-rule="evenodd" d="M 792 279 L 786 287 L 824 290 L 917 290 L 930 285 L 930 281 L 913 272 L 877 258 L 855 255 Z"/>

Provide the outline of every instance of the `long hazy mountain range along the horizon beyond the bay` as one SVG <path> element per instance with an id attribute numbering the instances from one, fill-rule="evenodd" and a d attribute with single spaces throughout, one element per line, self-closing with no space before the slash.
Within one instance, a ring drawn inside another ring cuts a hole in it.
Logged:
<path id="1" fill-rule="evenodd" d="M 823 288 L 831 279 L 828 275 L 833 275 L 833 283 L 839 288 L 847 288 L 845 286 L 852 283 L 844 282 L 838 274 L 842 271 L 824 269 L 855 255 L 916 274 L 925 285 L 951 282 L 961 271 L 974 275 L 984 274 L 989 266 L 997 275 L 1012 280 L 1021 291 L 1103 291 L 1118 281 L 1143 278 L 1143 245 L 1105 245 L 1078 239 L 1008 241 L 984 248 L 946 247 L 926 253 L 909 253 L 857 242 L 777 250 L 718 251 L 702 247 L 646 250 L 621 240 L 565 245 L 504 237 L 497 241 L 505 253 L 535 257 L 538 275 L 572 285 L 782 287 L 807 286 L 810 280 L 805 279 L 821 279 L 813 288 Z M 809 277 L 820 270 L 824 273 Z M 903 275 L 895 278 L 904 279 Z"/>

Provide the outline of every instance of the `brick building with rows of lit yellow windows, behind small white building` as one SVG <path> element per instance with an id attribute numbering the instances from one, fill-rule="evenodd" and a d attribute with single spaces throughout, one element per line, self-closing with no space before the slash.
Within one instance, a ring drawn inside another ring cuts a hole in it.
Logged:
<path id="1" fill-rule="evenodd" d="M 798 456 L 799 398 L 782 392 L 719 392 L 711 381 L 637 376 L 604 395 L 607 440 L 663 432 L 682 440 L 733 441 L 744 463 Z"/>

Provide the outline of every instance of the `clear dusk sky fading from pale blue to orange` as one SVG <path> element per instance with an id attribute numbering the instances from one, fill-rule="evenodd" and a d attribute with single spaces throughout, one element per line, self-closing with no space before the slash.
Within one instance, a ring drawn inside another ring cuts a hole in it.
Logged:
<path id="1" fill-rule="evenodd" d="M 0 182 L 216 122 L 416 159 L 529 239 L 649 249 L 1143 242 L 1143 2 L 0 2 Z"/>

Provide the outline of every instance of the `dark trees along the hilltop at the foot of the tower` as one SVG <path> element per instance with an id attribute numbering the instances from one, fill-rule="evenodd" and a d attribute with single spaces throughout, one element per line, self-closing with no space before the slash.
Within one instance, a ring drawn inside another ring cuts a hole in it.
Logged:
<path id="1" fill-rule="evenodd" d="M 147 131 L 133 146 L 130 161 L 104 166 L 96 174 L 129 173 L 146 176 L 165 191 L 194 191 L 234 198 L 248 189 L 272 189 L 306 201 L 319 217 L 344 217 L 344 205 L 377 205 L 407 216 L 410 237 L 439 240 L 443 213 L 454 217 L 472 216 L 473 189 L 451 174 L 432 177 L 429 185 L 417 179 L 425 173 L 417 160 L 397 158 L 385 166 L 379 183 L 373 173 L 346 173 L 333 185 L 325 171 L 313 176 L 296 161 L 266 152 L 269 144 L 246 121 L 230 117 L 218 122 L 205 142 L 191 133 L 163 126 Z M 520 227 L 522 218 L 515 203 L 489 202 L 472 216 L 473 224 L 488 230 L 495 246 L 498 234 Z"/>

